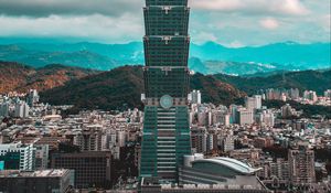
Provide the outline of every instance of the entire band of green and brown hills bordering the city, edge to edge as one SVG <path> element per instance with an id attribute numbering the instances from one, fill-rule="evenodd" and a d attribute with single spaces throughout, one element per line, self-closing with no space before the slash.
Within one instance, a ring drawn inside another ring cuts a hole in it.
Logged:
<path id="1" fill-rule="evenodd" d="M 142 108 L 142 66 L 121 66 L 109 72 L 89 71 L 64 65 L 32 68 L 18 63 L 0 62 L 0 94 L 36 88 L 41 99 L 54 105 L 72 104 L 76 109 Z M 204 103 L 229 105 L 242 103 L 243 97 L 265 88 L 318 90 L 331 85 L 331 69 L 242 77 L 225 74 L 191 76 L 191 89 L 200 89 Z"/>

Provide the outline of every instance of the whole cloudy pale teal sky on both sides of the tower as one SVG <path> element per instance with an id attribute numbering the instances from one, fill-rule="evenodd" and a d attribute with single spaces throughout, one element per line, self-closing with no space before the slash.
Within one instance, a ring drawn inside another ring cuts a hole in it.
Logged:
<path id="1" fill-rule="evenodd" d="M 192 41 L 330 42 L 330 0 L 190 0 Z M 0 0 L 0 37 L 141 41 L 143 0 Z"/>

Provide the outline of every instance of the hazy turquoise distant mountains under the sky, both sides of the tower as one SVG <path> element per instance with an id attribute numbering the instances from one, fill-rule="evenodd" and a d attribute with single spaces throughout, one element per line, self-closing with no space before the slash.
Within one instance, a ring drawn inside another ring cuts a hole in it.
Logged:
<path id="1" fill-rule="evenodd" d="M 256 47 L 225 47 L 214 42 L 191 44 L 190 68 L 203 74 L 252 75 L 331 66 L 331 44 L 276 43 Z M 63 64 L 99 71 L 143 64 L 142 43 L 12 43 L 0 40 L 0 60 L 33 67 Z"/>

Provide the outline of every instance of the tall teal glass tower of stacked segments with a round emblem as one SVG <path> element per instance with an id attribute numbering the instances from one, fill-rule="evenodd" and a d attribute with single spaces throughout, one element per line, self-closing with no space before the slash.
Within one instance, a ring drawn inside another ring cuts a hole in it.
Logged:
<path id="1" fill-rule="evenodd" d="M 188 112 L 188 0 L 146 0 L 145 126 L 141 178 L 178 181 L 191 153 Z"/>

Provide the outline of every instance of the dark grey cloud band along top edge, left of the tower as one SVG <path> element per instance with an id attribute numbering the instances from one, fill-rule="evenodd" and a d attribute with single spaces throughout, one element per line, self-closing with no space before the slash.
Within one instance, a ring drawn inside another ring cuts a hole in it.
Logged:
<path id="1" fill-rule="evenodd" d="M 0 14 L 49 17 L 138 13 L 142 0 L 0 0 Z"/>

